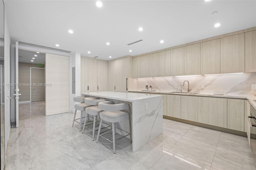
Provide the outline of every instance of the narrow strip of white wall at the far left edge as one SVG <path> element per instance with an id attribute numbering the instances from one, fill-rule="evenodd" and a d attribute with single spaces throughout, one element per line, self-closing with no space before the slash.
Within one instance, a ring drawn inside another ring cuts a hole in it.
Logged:
<path id="1" fill-rule="evenodd" d="M 10 34 L 6 14 L 4 15 L 4 83 L 10 83 Z M 10 134 L 10 86 L 4 87 L 4 124 L 5 124 L 5 153 Z"/>

